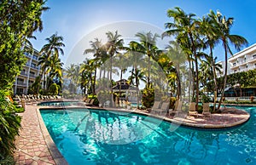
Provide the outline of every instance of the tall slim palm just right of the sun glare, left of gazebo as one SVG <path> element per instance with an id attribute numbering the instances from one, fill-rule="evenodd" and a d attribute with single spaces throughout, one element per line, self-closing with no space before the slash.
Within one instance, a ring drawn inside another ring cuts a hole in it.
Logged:
<path id="1" fill-rule="evenodd" d="M 112 60 L 113 60 L 113 56 L 115 54 L 118 54 L 119 49 L 123 47 L 124 44 L 124 40 L 120 39 L 120 37 L 122 37 L 121 35 L 119 35 L 118 31 L 115 31 L 114 33 L 111 31 L 108 31 L 106 33 L 107 37 L 108 37 L 108 43 L 106 43 L 106 48 L 108 50 L 108 55 L 110 58 L 110 81 L 112 82 Z M 112 87 L 112 83 L 111 83 L 111 104 L 113 104 L 113 87 Z"/>

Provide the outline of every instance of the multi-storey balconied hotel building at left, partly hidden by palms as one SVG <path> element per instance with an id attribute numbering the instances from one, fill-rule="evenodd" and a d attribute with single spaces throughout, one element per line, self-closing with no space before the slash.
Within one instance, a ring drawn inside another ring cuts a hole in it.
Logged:
<path id="1" fill-rule="evenodd" d="M 39 76 L 40 66 L 38 66 L 39 52 L 33 49 L 33 53 L 27 53 L 26 65 L 20 71 L 20 75 L 16 77 L 16 81 L 13 86 L 14 94 L 27 94 L 29 86 L 35 82 L 36 77 Z M 43 82 L 43 80 L 42 80 Z"/>

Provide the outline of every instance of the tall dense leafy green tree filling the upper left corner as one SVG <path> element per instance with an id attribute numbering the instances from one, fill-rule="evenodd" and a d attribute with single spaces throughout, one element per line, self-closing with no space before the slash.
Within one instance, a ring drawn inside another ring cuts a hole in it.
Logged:
<path id="1" fill-rule="evenodd" d="M 44 2 L 2 0 L 0 6 L 0 88 L 12 88 L 26 63 L 24 47 L 32 32 L 42 30 Z"/>

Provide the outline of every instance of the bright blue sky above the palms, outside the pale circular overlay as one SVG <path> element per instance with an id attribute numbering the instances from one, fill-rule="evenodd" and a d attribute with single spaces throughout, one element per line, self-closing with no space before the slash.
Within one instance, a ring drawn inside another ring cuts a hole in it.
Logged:
<path id="1" fill-rule="evenodd" d="M 256 43 L 254 0 L 49 0 L 46 6 L 50 9 L 42 17 L 44 30 L 35 33 L 37 40 L 32 40 L 32 44 L 40 50 L 46 43 L 45 38 L 57 31 L 64 37 L 66 44 L 65 55 L 61 57 L 64 62 L 74 55 L 73 49 L 83 37 L 114 22 L 144 22 L 165 31 L 164 24 L 171 21 L 166 11 L 174 7 L 180 7 L 186 13 L 194 13 L 198 17 L 209 13 L 210 9 L 215 12 L 219 10 L 226 17 L 235 19 L 230 33 L 247 38 L 248 46 Z M 216 48 L 215 52 L 218 60 L 224 60 L 221 48 Z"/>

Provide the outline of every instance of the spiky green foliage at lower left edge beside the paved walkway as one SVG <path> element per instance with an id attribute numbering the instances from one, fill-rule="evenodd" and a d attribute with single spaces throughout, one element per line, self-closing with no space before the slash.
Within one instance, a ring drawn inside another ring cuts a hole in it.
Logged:
<path id="1" fill-rule="evenodd" d="M 15 149 L 15 136 L 19 133 L 20 117 L 17 108 L 9 100 L 7 93 L 0 90 L 0 162 L 10 156 Z M 2 164 L 2 163 L 1 163 Z"/>

